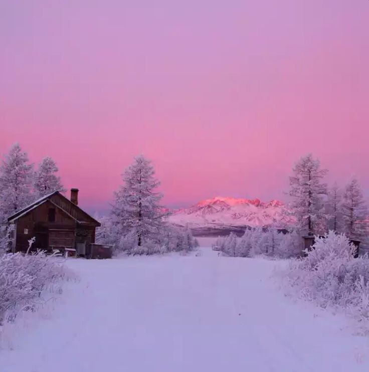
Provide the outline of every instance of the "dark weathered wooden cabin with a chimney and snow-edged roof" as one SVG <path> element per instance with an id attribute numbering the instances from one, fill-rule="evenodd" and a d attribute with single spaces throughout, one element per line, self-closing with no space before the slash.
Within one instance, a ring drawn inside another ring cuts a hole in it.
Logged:
<path id="1" fill-rule="evenodd" d="M 35 237 L 33 250 L 77 252 L 85 256 L 86 247 L 95 243 L 100 223 L 78 207 L 78 189 L 71 199 L 58 191 L 46 195 L 8 218 L 15 225 L 12 252 L 26 252 Z"/>

